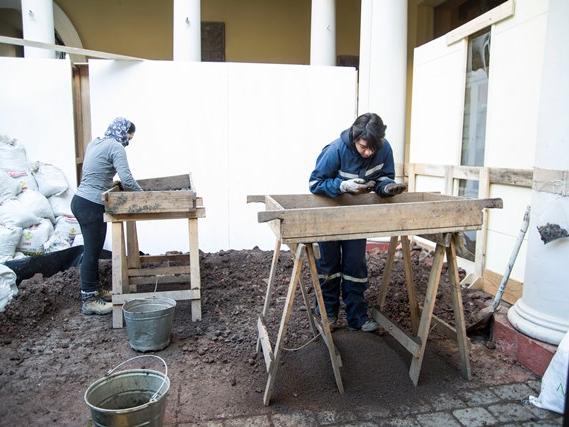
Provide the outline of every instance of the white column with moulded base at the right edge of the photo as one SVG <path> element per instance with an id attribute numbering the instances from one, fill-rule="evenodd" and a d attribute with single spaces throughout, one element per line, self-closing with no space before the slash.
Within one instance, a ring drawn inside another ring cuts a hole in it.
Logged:
<path id="1" fill-rule="evenodd" d="M 569 2 L 550 0 L 548 15 L 535 167 L 567 171 Z M 569 238 L 544 244 L 537 226 L 549 222 L 569 229 L 569 183 L 556 180 L 551 184 L 565 195 L 539 191 L 544 184 L 534 177 L 523 295 L 508 311 L 508 319 L 526 335 L 559 344 L 569 330 Z"/>

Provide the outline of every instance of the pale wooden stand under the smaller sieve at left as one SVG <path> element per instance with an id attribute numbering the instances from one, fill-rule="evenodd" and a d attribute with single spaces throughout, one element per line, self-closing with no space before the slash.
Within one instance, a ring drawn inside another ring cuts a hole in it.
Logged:
<path id="1" fill-rule="evenodd" d="M 105 214 L 105 221 L 112 223 L 112 303 L 113 328 L 123 327 L 122 305 L 132 299 L 164 296 L 174 300 L 192 301 L 192 321 L 201 320 L 201 284 L 198 243 L 198 218 L 205 216 L 203 208 L 194 212 Z M 190 254 L 188 255 L 140 255 L 136 222 L 145 220 L 187 219 Z M 125 245 L 126 228 L 126 245 Z M 185 265 L 149 267 L 148 264 L 170 263 Z M 188 265 L 189 264 L 189 265 Z M 187 289 L 137 292 L 138 285 L 188 283 Z"/>

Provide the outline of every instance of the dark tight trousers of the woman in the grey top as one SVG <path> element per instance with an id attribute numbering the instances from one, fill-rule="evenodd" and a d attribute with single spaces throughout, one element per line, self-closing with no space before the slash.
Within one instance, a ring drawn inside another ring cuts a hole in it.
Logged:
<path id="1" fill-rule="evenodd" d="M 71 212 L 77 218 L 83 234 L 81 290 L 94 292 L 99 289 L 99 257 L 107 235 L 107 224 L 103 221 L 105 207 L 83 197 L 73 196 Z"/>

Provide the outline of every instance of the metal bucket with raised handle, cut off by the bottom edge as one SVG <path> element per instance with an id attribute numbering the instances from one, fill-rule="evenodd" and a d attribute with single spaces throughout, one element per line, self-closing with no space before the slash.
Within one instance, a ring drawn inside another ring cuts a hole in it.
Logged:
<path id="1" fill-rule="evenodd" d="M 155 357 L 164 364 L 164 373 L 151 369 L 115 370 L 131 360 Z M 91 408 L 96 427 L 160 427 L 170 390 L 168 366 L 154 355 L 136 356 L 119 364 L 89 386 L 85 403 Z"/>

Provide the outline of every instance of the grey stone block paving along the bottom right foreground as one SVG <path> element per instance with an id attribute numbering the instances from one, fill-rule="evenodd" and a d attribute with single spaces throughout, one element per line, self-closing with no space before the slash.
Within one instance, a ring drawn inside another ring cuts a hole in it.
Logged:
<path id="1" fill-rule="evenodd" d="M 469 389 L 455 395 L 440 394 L 429 402 L 401 406 L 355 408 L 350 412 L 294 411 L 268 412 L 249 417 L 178 423 L 177 427 L 443 427 L 443 426 L 560 426 L 562 417 L 536 408 L 527 402 L 539 393 L 539 381 Z"/>

